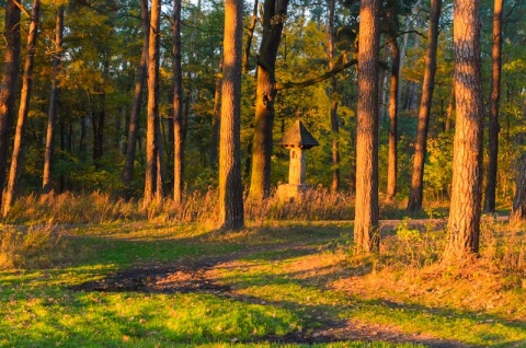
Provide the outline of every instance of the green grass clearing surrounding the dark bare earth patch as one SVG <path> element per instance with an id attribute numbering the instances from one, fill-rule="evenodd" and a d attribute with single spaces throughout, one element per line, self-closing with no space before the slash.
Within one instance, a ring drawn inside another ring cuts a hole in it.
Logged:
<path id="1" fill-rule="evenodd" d="M 201 224 L 146 222 L 65 227 L 68 242 L 87 251 L 83 258 L 53 269 L 0 271 L 0 346 L 301 347 L 306 345 L 291 344 L 287 337 L 316 337 L 334 323 L 350 321 L 398 336 L 526 347 L 526 313 L 506 317 L 457 308 L 455 302 L 437 306 L 423 298 L 408 302 L 396 293 L 375 293 L 373 288 L 370 293 L 338 288 L 338 281 L 345 279 L 381 277 L 370 268 L 370 259 L 347 253 L 348 231 L 350 224 L 341 222 L 273 223 L 231 233 Z M 330 243 L 336 246 L 327 247 Z M 69 289 L 119 270 L 192 265 L 210 257 L 222 259 L 207 268 L 207 277 L 229 287 L 228 293 Z M 495 293 L 515 292 L 518 299 L 521 291 Z M 510 301 L 503 303 L 514 305 Z M 416 346 L 375 337 L 363 341 L 343 336 L 341 341 L 318 346 Z"/>

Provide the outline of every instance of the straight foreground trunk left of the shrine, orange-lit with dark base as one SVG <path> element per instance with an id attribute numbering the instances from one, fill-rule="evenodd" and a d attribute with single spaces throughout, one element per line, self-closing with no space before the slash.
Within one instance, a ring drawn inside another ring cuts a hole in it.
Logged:
<path id="1" fill-rule="evenodd" d="M 241 55 L 243 2 L 226 0 L 219 146 L 219 227 L 244 227 L 241 182 Z"/>

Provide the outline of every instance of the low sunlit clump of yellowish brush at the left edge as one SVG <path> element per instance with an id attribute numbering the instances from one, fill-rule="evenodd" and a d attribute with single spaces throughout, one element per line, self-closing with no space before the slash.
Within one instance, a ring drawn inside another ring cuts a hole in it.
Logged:
<path id="1" fill-rule="evenodd" d="M 50 224 L 24 229 L 0 227 L 0 270 L 44 269 L 71 265 L 87 254 Z"/>

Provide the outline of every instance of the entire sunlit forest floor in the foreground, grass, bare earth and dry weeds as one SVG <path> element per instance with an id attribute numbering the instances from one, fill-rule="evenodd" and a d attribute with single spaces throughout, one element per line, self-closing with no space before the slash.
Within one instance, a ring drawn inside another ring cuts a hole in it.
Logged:
<path id="1" fill-rule="evenodd" d="M 350 222 L 62 227 L 70 265 L 0 271 L 0 346 L 526 347 L 521 275 L 416 256 L 443 224 L 385 221 L 366 258 Z"/>

